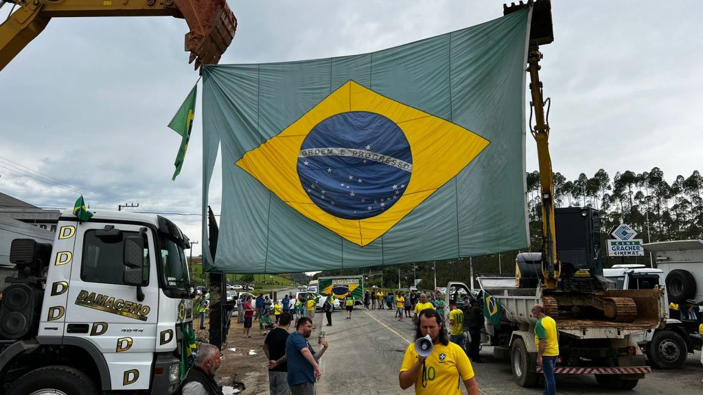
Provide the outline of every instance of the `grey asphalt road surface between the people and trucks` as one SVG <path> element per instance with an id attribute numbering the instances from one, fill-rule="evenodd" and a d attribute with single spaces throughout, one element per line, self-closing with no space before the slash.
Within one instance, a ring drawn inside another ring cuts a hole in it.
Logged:
<path id="1" fill-rule="evenodd" d="M 398 322 L 394 311 L 354 309 L 352 320 L 344 311 L 333 313 L 333 326 L 321 325 L 323 313 L 316 315 L 311 343 L 317 349 L 319 330 L 325 330 L 330 349 L 321 359 L 323 377 L 316 384 L 318 395 L 413 394 L 411 387 L 400 389 L 398 372 L 408 344 L 413 340 L 410 319 Z M 493 358 L 493 349 L 482 349 L 484 363 L 475 364 L 482 394 L 542 393 L 541 388 L 522 388 L 512 380 L 510 364 Z M 703 366 L 700 354 L 690 355 L 681 370 L 654 370 L 631 391 L 602 389 L 592 375 L 557 375 L 559 394 L 700 394 Z M 463 389 L 465 393 L 465 389 Z"/>

